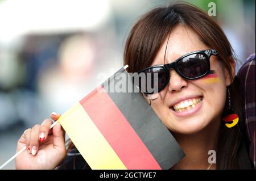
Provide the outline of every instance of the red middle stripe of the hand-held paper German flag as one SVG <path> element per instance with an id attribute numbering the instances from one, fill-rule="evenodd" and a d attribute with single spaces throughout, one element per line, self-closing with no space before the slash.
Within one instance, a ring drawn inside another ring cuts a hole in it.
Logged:
<path id="1" fill-rule="evenodd" d="M 127 169 L 161 169 L 102 86 L 82 99 L 80 104 Z"/>

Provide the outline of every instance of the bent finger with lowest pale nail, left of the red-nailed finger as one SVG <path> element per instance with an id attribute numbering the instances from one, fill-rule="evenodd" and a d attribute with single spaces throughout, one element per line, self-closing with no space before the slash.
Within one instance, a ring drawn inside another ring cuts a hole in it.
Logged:
<path id="1" fill-rule="evenodd" d="M 31 154 L 35 155 L 38 152 L 38 146 L 39 146 L 39 131 L 40 131 L 41 125 L 36 124 L 30 133 L 30 149 Z"/>

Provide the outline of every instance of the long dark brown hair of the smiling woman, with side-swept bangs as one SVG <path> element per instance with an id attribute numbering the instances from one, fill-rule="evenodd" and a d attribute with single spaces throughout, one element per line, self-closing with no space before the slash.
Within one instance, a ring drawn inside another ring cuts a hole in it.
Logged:
<path id="1" fill-rule="evenodd" d="M 127 37 L 124 65 L 129 65 L 129 72 L 137 72 L 150 66 L 171 29 L 177 24 L 192 28 L 205 45 L 217 50 L 220 60 L 229 71 L 232 108 L 240 121 L 233 128 L 226 128 L 221 124 L 216 149 L 217 169 L 252 169 L 246 149 L 247 136 L 241 114 L 239 83 L 232 72 L 235 60 L 233 49 L 221 27 L 210 16 L 189 3 L 175 3 L 147 12 L 135 23 Z M 228 104 L 224 113 L 227 106 Z"/>

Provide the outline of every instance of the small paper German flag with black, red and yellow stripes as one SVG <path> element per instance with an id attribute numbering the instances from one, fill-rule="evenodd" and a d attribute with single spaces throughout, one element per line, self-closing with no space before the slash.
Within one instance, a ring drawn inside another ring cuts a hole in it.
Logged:
<path id="1" fill-rule="evenodd" d="M 61 126 L 92 169 L 170 169 L 183 151 L 141 93 L 109 92 L 118 74 L 129 85 L 118 70 L 65 112 Z"/>

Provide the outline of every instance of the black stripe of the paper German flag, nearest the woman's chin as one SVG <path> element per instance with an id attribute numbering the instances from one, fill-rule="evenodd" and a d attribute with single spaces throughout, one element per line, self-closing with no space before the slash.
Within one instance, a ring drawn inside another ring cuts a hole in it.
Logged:
<path id="1" fill-rule="evenodd" d="M 119 80 L 119 73 L 126 74 L 126 79 L 121 79 L 123 85 L 126 84 L 127 87 L 131 85 L 129 74 L 122 68 L 102 84 L 106 92 L 108 92 L 109 88 L 107 85 L 111 81 L 115 81 L 114 79 L 117 77 Z M 108 94 L 162 169 L 170 169 L 184 157 L 183 150 L 171 132 L 162 123 L 140 92 L 108 92 Z"/>

